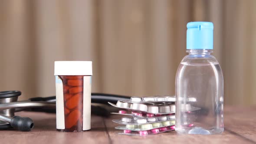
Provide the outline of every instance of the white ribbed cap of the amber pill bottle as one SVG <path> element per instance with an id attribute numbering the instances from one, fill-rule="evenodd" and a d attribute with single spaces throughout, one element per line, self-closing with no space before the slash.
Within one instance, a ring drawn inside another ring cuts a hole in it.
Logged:
<path id="1" fill-rule="evenodd" d="M 92 75 L 92 61 L 55 61 L 54 75 Z"/>

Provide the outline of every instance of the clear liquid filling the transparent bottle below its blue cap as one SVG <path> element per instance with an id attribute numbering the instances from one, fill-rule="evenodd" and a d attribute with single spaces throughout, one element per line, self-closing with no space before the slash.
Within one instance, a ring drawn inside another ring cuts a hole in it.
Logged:
<path id="1" fill-rule="evenodd" d="M 191 108 L 200 108 L 195 111 L 183 111 L 177 107 L 176 131 L 179 133 L 223 132 L 222 71 L 213 56 L 207 57 L 187 56 L 177 70 L 177 105 L 188 104 Z"/>

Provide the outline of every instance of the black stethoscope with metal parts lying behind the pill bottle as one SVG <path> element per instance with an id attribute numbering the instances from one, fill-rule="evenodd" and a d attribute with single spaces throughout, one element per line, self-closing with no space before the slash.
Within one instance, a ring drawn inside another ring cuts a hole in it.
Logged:
<path id="1" fill-rule="evenodd" d="M 0 130 L 14 128 L 19 131 L 30 131 L 34 127 L 31 118 L 14 115 L 18 111 L 56 112 L 55 96 L 18 101 L 20 95 L 20 91 L 0 92 Z M 122 95 L 92 93 L 92 114 L 108 116 L 110 112 L 115 111 L 107 105 L 108 102 L 116 103 L 118 100 L 129 99 L 130 97 Z"/>

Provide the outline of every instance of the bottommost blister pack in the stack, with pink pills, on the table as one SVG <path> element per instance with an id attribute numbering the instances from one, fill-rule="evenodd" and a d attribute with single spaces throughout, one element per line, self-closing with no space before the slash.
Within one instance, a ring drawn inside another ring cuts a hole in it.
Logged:
<path id="1" fill-rule="evenodd" d="M 118 134 L 122 135 L 133 135 L 133 136 L 145 136 L 145 135 L 152 135 L 152 134 L 160 134 L 167 131 L 173 131 L 175 126 L 167 126 L 162 128 L 155 128 L 148 131 L 131 131 L 131 130 L 124 130 L 123 132 L 119 132 Z"/>

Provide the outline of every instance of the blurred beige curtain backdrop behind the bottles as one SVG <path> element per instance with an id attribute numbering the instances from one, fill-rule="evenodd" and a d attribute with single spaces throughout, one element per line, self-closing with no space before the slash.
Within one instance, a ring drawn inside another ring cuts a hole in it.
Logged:
<path id="1" fill-rule="evenodd" d="M 256 0 L 0 0 L 0 91 L 55 95 L 56 60 L 92 60 L 93 92 L 174 95 L 186 24 L 214 23 L 226 105 L 256 105 Z"/>

